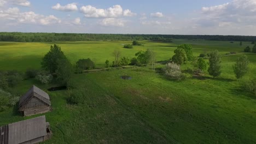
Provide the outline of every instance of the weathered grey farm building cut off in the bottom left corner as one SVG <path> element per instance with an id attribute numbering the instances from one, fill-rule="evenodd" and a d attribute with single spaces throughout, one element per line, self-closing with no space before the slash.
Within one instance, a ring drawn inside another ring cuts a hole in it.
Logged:
<path id="1" fill-rule="evenodd" d="M 27 119 L 0 127 L 0 143 L 28 144 L 50 139 L 50 125 L 45 116 Z"/>

